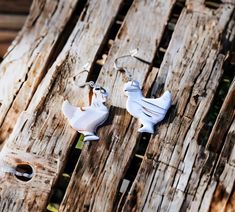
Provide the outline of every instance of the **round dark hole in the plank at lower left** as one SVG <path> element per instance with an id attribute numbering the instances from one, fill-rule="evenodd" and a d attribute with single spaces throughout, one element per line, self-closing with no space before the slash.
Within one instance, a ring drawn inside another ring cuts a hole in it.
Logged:
<path id="1" fill-rule="evenodd" d="M 28 164 L 19 164 L 15 168 L 15 177 L 21 181 L 29 181 L 33 177 L 33 168 Z"/>

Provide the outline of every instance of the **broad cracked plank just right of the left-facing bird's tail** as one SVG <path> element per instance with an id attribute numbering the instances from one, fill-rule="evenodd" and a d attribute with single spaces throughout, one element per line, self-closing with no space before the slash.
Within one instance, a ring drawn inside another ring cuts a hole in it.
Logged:
<path id="1" fill-rule="evenodd" d="M 168 121 L 150 140 L 124 211 L 187 209 L 196 192 L 197 178 L 203 172 L 194 167 L 196 160 L 197 165 L 206 167 L 215 157 L 207 152 L 205 159 L 200 159 L 202 148 L 197 138 L 223 73 L 225 56 L 219 54 L 219 38 L 234 6 L 221 5 L 215 15 L 201 7 L 200 2 L 188 1 L 176 24 L 156 79 L 157 88 L 172 91 L 175 106 Z"/>

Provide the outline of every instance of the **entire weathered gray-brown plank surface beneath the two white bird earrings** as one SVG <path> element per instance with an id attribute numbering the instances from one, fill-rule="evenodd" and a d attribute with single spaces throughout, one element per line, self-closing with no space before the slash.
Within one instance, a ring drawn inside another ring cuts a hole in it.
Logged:
<path id="1" fill-rule="evenodd" d="M 234 81 L 209 139 L 203 134 L 216 91 L 229 70 L 223 76 L 224 68 L 234 54 L 233 0 L 209 2 L 208 7 L 204 0 L 187 0 L 182 11 L 182 0 L 126 2 L 34 1 L 0 70 L 0 94 L 5 98 L 9 92 L 12 98 L 6 101 L 8 109 L 0 106 L 0 117 L 6 113 L 0 124 L 0 140 L 5 140 L 0 152 L 0 211 L 45 211 L 52 201 L 50 194 L 70 166 L 67 159 L 78 137 L 61 104 L 68 99 L 75 106 L 88 105 L 91 90 L 78 85 L 91 79 L 108 90 L 110 115 L 98 129 L 100 140 L 84 143 L 59 211 L 235 211 Z M 76 4 L 80 7 L 75 9 Z M 167 29 L 174 30 L 172 37 Z M 31 55 L 20 51 L 24 48 Z M 120 64 L 140 81 L 143 93 L 159 96 L 169 89 L 173 94 L 172 108 L 151 137 L 137 132 L 140 123 L 125 110 L 126 79 L 113 67 L 118 56 L 135 48 L 146 62 L 125 58 Z M 88 71 L 83 71 L 87 63 Z M 159 63 L 160 68 L 154 67 Z M 32 65 L 28 70 L 27 64 Z M 16 68 L 20 75 L 12 76 Z M 8 79 L 12 89 L 3 90 Z M 147 149 L 141 149 L 144 156 L 137 155 L 140 142 L 147 142 Z M 137 157 L 142 162 L 136 175 L 132 166 Z M 19 164 L 33 168 L 30 181 L 4 172 Z M 134 181 L 121 191 L 123 179 L 130 178 Z"/>

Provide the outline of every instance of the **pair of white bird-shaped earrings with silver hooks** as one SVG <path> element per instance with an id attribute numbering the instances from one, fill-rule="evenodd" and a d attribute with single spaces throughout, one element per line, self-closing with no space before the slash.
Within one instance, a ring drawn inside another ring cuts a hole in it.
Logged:
<path id="1" fill-rule="evenodd" d="M 140 89 L 139 82 L 132 79 L 131 74 L 126 68 L 117 66 L 118 59 L 129 56 L 138 59 L 134 54 L 131 54 L 121 56 L 114 62 L 115 68 L 118 71 L 124 71 L 128 77 L 128 82 L 124 85 L 124 93 L 127 96 L 126 109 L 142 124 L 138 132 L 152 134 L 154 133 L 154 125 L 164 119 L 171 106 L 171 93 L 165 91 L 159 98 L 145 98 Z M 68 100 L 65 100 L 62 104 L 62 112 L 70 125 L 84 135 L 84 141 L 99 140 L 95 131 L 108 118 L 109 109 L 104 104 L 108 93 L 103 87 L 96 85 L 94 82 L 87 82 L 83 86 L 85 85 L 93 88 L 91 104 L 87 107 L 74 107 Z"/>

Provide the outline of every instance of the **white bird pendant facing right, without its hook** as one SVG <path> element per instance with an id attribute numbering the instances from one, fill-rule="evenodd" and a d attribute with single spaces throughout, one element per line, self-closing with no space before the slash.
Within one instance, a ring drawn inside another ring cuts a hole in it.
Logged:
<path id="1" fill-rule="evenodd" d="M 107 91 L 99 86 L 92 90 L 91 104 L 87 107 L 75 107 L 68 100 L 62 104 L 62 112 L 72 128 L 84 135 L 84 141 L 99 140 L 95 134 L 96 128 L 108 118 L 109 109 L 104 105 L 107 100 Z"/>

